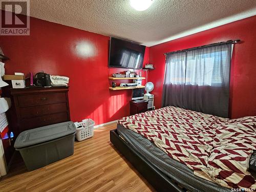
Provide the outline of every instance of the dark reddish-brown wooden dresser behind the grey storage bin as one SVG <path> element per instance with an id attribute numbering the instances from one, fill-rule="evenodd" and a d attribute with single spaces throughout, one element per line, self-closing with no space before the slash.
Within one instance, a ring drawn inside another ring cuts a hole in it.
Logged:
<path id="1" fill-rule="evenodd" d="M 9 89 L 7 116 L 14 138 L 36 127 L 70 121 L 68 87 Z"/>

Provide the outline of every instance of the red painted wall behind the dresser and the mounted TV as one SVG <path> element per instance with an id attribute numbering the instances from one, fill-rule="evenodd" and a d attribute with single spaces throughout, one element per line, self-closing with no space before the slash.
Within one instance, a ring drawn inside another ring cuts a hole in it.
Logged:
<path id="1" fill-rule="evenodd" d="M 112 81 L 108 76 L 125 70 L 108 68 L 109 40 L 107 36 L 31 17 L 30 36 L 0 36 L 0 46 L 10 58 L 6 74 L 44 70 L 70 77 L 71 119 L 92 118 L 101 124 L 128 116 L 132 95 L 131 90 L 109 90 Z M 89 43 L 86 49 L 91 49 L 93 56 L 77 55 L 80 42 Z M 144 63 L 148 59 L 146 48 Z"/>

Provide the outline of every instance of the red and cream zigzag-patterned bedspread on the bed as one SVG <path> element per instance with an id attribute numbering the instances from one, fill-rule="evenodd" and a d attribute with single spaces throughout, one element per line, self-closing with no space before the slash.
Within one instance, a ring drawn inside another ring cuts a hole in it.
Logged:
<path id="1" fill-rule="evenodd" d="M 167 106 L 118 123 L 151 140 L 199 177 L 228 188 L 256 188 L 248 172 L 256 150 L 256 117 L 225 119 Z"/>

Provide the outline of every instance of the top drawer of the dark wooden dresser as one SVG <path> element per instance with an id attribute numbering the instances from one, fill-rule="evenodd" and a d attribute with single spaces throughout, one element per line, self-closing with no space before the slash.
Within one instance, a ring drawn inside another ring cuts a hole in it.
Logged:
<path id="1" fill-rule="evenodd" d="M 31 94 L 18 95 L 18 106 L 33 106 L 42 104 L 51 104 L 67 101 L 66 93 L 45 93 L 45 94 Z"/>

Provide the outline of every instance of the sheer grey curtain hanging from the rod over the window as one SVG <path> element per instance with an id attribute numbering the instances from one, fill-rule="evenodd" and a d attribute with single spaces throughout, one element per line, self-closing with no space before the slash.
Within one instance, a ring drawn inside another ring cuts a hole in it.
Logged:
<path id="1" fill-rule="evenodd" d="M 231 44 L 167 54 L 163 106 L 228 117 Z"/>

